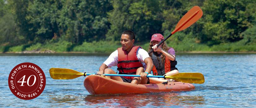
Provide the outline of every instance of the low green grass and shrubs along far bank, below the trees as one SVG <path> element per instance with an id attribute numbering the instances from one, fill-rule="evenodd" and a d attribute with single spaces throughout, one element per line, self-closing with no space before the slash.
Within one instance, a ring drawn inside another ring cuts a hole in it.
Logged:
<path id="1" fill-rule="evenodd" d="M 166 32 L 165 35 L 168 35 Z M 251 38 L 245 38 L 238 42 L 221 43 L 209 45 L 207 43 L 200 44 L 192 35 L 185 35 L 183 33 L 176 33 L 175 36 L 170 37 L 165 42 L 169 47 L 173 47 L 176 52 L 256 52 L 256 43 L 251 41 Z M 255 39 L 253 39 L 255 40 Z M 149 40 L 150 41 L 150 40 Z M 148 41 L 148 42 L 149 42 Z M 148 51 L 149 43 L 136 43 L 143 49 Z M 119 41 L 93 41 L 83 42 L 81 45 L 72 44 L 65 40 L 48 40 L 45 43 L 23 44 L 19 46 L 0 46 L 0 52 L 25 52 L 35 51 L 45 53 L 51 51 L 55 53 L 63 52 L 89 52 L 89 53 L 111 53 L 117 48 L 121 47 Z"/>

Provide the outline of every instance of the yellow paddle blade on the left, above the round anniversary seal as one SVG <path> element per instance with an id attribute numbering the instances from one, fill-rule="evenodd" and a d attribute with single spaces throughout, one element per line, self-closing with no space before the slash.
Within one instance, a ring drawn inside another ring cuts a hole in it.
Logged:
<path id="1" fill-rule="evenodd" d="M 52 79 L 56 79 L 56 80 L 74 79 L 74 78 L 83 76 L 83 73 L 80 73 L 72 69 L 64 69 L 64 68 L 51 68 L 49 69 L 49 72 Z"/>

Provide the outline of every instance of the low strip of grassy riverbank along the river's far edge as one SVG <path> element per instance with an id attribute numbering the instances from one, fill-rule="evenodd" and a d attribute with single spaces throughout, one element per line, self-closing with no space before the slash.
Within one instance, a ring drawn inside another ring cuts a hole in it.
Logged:
<path id="1" fill-rule="evenodd" d="M 225 43 L 208 46 L 195 42 L 180 42 L 168 39 L 165 42 L 177 53 L 255 53 L 256 45 Z M 148 51 L 149 43 L 135 43 Z M 23 44 L 19 46 L 0 46 L 0 53 L 112 53 L 121 47 L 119 41 L 93 41 L 83 44 L 72 44 L 67 41 Z"/>

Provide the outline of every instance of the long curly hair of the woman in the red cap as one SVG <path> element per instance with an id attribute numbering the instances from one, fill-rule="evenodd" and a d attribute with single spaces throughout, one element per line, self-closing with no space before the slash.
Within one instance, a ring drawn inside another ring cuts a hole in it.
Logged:
<path id="1" fill-rule="evenodd" d="M 163 42 L 162 45 L 163 45 L 162 49 L 163 49 L 165 52 L 168 52 L 168 50 L 171 48 L 171 47 L 168 47 L 168 46 L 165 44 L 165 42 Z M 153 44 L 152 44 L 152 42 L 150 42 L 150 43 L 149 43 L 149 49 L 148 49 L 148 51 L 153 50 L 152 47 L 153 47 Z M 154 52 L 154 51 L 153 51 L 152 53 L 154 53 L 155 55 L 158 55 L 157 52 Z M 152 57 L 152 53 L 149 54 L 150 57 Z M 159 64 L 160 64 L 159 56 L 156 56 L 156 57 L 157 57 L 157 60 L 158 60 L 158 62 L 159 62 Z M 160 57 L 162 58 L 162 61 L 161 61 L 162 64 L 164 64 L 164 61 L 165 61 L 165 56 L 164 56 L 164 54 L 161 54 Z"/>

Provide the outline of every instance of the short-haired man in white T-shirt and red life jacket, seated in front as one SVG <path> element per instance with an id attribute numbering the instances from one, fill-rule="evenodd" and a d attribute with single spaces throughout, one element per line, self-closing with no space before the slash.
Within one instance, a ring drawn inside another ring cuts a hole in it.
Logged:
<path id="1" fill-rule="evenodd" d="M 141 77 L 113 77 L 113 80 L 129 82 L 132 84 L 146 84 L 147 75 L 153 68 L 153 62 L 148 53 L 140 46 L 134 45 L 135 34 L 133 31 L 124 31 L 120 43 L 122 47 L 112 52 L 108 59 L 101 65 L 98 74 L 117 74 L 109 67 L 117 66 L 119 74 L 140 75 Z"/>

